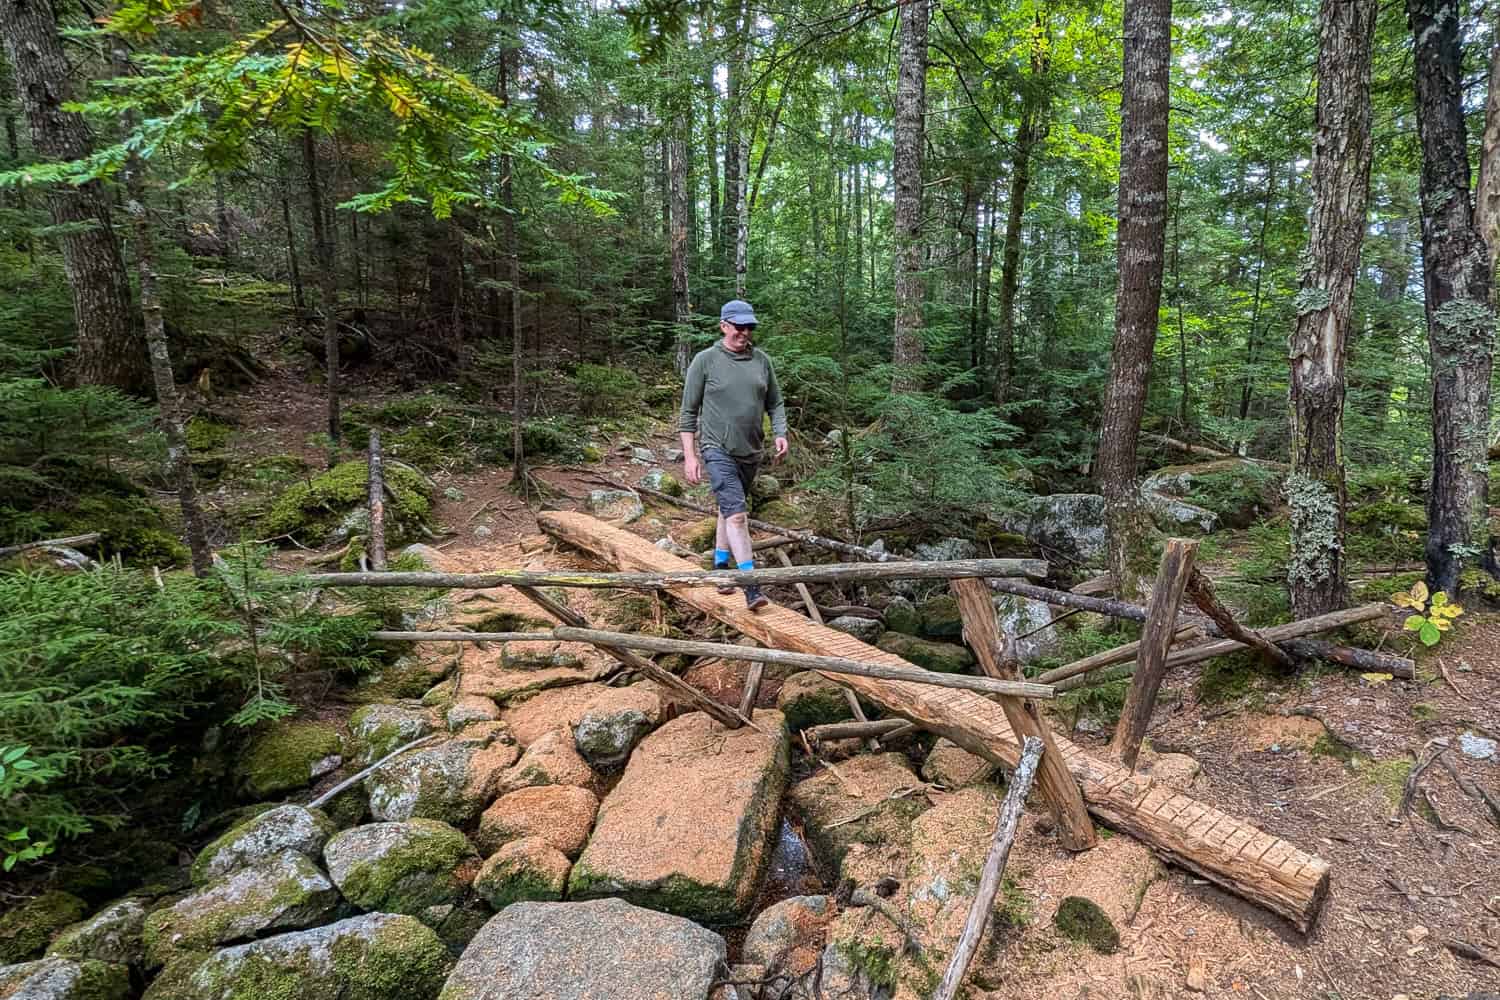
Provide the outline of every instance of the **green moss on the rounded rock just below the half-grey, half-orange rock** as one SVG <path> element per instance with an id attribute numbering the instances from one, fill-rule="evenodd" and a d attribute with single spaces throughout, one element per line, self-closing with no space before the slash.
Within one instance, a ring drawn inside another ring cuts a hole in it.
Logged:
<path id="1" fill-rule="evenodd" d="M 468 838 L 438 820 L 408 820 L 406 826 L 418 828 L 420 835 L 352 868 L 339 886 L 360 909 L 420 913 L 429 906 L 453 903 L 459 894 L 460 883 L 452 873 L 476 861 Z"/>

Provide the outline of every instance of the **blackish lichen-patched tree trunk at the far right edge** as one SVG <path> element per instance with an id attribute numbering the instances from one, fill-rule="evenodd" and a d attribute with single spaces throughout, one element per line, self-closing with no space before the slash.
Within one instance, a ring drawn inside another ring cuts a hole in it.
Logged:
<path id="1" fill-rule="evenodd" d="M 1496 568 L 1485 457 L 1494 351 L 1490 249 L 1468 192 L 1458 0 L 1407 0 L 1407 19 L 1416 39 L 1422 282 L 1432 351 L 1426 582 L 1452 594 L 1466 567 Z"/>

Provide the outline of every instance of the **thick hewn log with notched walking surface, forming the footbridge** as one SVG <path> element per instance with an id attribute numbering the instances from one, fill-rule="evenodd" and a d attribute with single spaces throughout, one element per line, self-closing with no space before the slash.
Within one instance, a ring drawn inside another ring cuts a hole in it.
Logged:
<path id="1" fill-rule="evenodd" d="M 537 520 L 549 535 L 610 565 L 642 573 L 678 573 L 692 565 L 588 514 L 544 511 Z M 750 612 L 740 594 L 720 595 L 712 586 L 674 586 L 668 592 L 765 646 L 910 669 L 900 657 L 786 607 L 772 604 Z M 1020 742 L 1005 712 L 980 694 L 903 681 L 828 676 L 986 760 L 1005 768 L 1016 768 L 1020 760 Z M 1328 862 L 1144 775 L 1132 775 L 1114 762 L 1092 757 L 1062 736 L 1053 739 L 1095 817 L 1136 837 L 1167 861 L 1284 916 L 1298 930 L 1312 928 L 1328 895 Z"/>

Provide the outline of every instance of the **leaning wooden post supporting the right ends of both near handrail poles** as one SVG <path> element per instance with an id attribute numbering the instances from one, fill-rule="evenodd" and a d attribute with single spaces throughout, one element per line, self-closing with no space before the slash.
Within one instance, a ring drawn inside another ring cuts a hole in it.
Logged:
<path id="1" fill-rule="evenodd" d="M 994 598 L 990 597 L 990 588 L 980 580 L 954 580 L 950 589 L 958 603 L 964 639 L 974 649 L 974 655 L 978 657 L 984 673 L 996 679 L 1018 681 L 1022 672 L 1016 660 L 1006 657 L 1000 648 L 1000 622 L 994 613 Z M 1036 739 L 1047 751 L 1041 762 L 1041 789 L 1058 825 L 1058 840 L 1068 850 L 1094 847 L 1098 840 L 1094 835 L 1094 820 L 1089 819 L 1089 810 L 1083 805 L 1083 793 L 1078 792 L 1077 780 L 1068 772 L 1066 762 L 1058 753 L 1052 730 L 1042 721 L 1036 703 L 1022 699 L 1000 699 L 1000 709 L 1017 738 Z"/>

